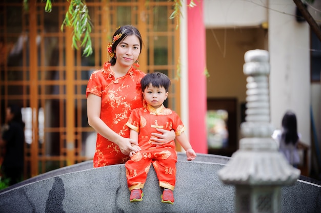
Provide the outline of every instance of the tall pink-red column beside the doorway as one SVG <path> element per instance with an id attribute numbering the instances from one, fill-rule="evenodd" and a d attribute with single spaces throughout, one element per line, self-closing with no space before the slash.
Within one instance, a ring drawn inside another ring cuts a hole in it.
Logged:
<path id="1" fill-rule="evenodd" d="M 197 6 L 187 8 L 189 137 L 196 153 L 208 153 L 205 121 L 207 93 L 203 0 L 195 1 L 195 3 Z"/>

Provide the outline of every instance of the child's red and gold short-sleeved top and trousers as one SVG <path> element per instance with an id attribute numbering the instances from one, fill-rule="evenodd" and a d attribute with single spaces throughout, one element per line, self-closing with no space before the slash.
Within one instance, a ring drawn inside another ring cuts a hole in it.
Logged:
<path id="1" fill-rule="evenodd" d="M 130 129 L 138 132 L 138 145 L 142 150 L 131 157 L 125 164 L 129 190 L 144 187 L 151 163 L 155 169 L 159 186 L 173 190 L 176 181 L 177 153 L 175 142 L 156 146 L 151 144 L 155 129 L 174 130 L 176 136 L 186 127 L 179 116 L 162 105 L 155 109 L 150 105 L 132 111 L 128 122 Z"/>

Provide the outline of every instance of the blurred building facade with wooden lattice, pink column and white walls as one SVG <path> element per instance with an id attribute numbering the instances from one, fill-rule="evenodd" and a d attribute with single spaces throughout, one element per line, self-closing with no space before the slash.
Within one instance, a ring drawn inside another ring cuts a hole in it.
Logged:
<path id="1" fill-rule="evenodd" d="M 297 22 L 295 4 L 194 2 L 190 7 L 182 1 L 178 23 L 169 18 L 172 1 L 86 1 L 93 24 L 89 57 L 72 48 L 71 29 L 60 30 L 69 2 L 54 1 L 51 13 L 36 0 L 29 1 L 28 12 L 21 12 L 20 0 L 0 3 L 1 123 L 9 103 L 24 108 L 26 178 L 91 158 L 95 133 L 87 123 L 87 81 L 108 60 L 111 34 L 125 24 L 143 36 L 140 68 L 172 79 L 167 104 L 187 125 L 196 152 L 231 156 L 237 150 L 246 99 L 244 53 L 264 49 L 270 53 L 271 123 L 280 128 L 285 111 L 293 110 L 313 156 L 321 132 L 320 79 L 311 77 L 311 32 L 306 22 Z M 228 142 L 217 143 L 217 134 L 209 139 L 212 110 L 225 116 Z"/>

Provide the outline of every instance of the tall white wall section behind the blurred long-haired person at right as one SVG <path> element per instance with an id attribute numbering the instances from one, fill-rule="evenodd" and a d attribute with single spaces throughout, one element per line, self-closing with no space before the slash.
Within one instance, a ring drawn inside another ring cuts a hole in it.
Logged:
<path id="1" fill-rule="evenodd" d="M 297 116 L 302 141 L 310 144 L 310 33 L 309 25 L 297 23 L 295 4 L 269 1 L 271 122 L 280 128 L 287 110 Z"/>

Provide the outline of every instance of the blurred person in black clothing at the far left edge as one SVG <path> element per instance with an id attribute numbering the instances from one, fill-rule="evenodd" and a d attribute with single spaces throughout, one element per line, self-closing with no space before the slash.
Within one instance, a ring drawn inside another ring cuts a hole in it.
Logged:
<path id="1" fill-rule="evenodd" d="M 1 169 L 9 185 L 20 182 L 24 171 L 25 123 L 22 120 L 21 108 L 10 105 L 6 112 L 6 122 L 1 145 L 5 147 L 5 156 Z"/>

